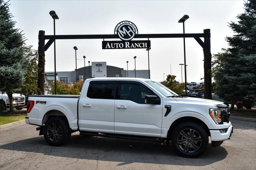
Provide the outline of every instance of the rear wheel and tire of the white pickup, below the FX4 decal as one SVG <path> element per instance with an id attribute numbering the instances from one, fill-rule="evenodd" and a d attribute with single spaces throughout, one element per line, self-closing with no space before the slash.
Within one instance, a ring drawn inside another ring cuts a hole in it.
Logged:
<path id="1" fill-rule="evenodd" d="M 52 146 L 62 146 L 71 136 L 68 121 L 64 117 L 53 117 L 44 125 L 44 139 Z"/>

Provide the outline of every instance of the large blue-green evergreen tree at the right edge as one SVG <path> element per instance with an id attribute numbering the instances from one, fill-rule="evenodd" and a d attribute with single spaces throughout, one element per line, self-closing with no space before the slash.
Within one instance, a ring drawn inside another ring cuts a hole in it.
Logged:
<path id="1" fill-rule="evenodd" d="M 229 27 L 235 32 L 226 41 L 230 45 L 223 52 L 213 55 L 213 77 L 216 93 L 226 101 L 256 95 L 256 0 L 248 0 L 245 12 L 237 16 L 238 23 Z"/>

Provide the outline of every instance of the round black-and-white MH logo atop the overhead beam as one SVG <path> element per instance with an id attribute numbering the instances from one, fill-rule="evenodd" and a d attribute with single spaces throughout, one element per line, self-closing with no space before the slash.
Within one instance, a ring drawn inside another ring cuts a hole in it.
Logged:
<path id="1" fill-rule="evenodd" d="M 115 34 L 118 34 L 121 40 L 129 41 L 134 38 L 135 34 L 138 34 L 138 29 L 132 22 L 122 21 L 117 24 Z"/>

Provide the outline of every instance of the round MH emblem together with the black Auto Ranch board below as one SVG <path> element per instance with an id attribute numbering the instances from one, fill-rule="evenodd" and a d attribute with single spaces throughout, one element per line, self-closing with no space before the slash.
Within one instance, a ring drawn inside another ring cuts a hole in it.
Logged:
<path id="1" fill-rule="evenodd" d="M 102 41 L 102 49 L 133 49 L 133 48 L 148 48 L 150 47 L 149 40 L 131 41 L 135 34 L 138 34 L 138 29 L 135 24 L 130 21 L 122 21 L 116 25 L 114 33 L 122 41 Z"/>

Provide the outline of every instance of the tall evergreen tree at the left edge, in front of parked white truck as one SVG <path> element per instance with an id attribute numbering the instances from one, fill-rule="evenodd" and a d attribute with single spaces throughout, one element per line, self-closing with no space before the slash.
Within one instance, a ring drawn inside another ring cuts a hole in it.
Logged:
<path id="1" fill-rule="evenodd" d="M 14 28 L 8 2 L 0 0 L 0 91 L 6 92 L 13 111 L 12 94 L 20 91 L 26 72 L 24 37 Z"/>

